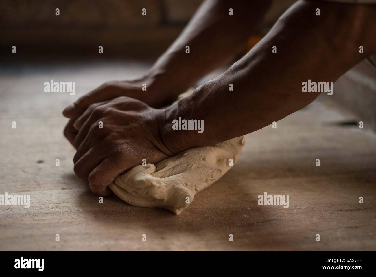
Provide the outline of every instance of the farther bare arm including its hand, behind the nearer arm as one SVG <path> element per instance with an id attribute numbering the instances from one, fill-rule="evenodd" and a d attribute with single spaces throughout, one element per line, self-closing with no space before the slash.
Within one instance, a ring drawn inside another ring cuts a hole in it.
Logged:
<path id="1" fill-rule="evenodd" d="M 264 17 L 271 0 L 206 0 L 183 32 L 139 79 L 108 82 L 67 107 L 66 117 L 80 116 L 92 103 L 128 96 L 152 107 L 176 99 L 206 73 L 231 59 L 242 49 Z M 233 15 L 229 15 L 229 9 Z M 190 53 L 185 53 L 185 47 Z M 147 85 L 147 91 L 142 85 Z"/>

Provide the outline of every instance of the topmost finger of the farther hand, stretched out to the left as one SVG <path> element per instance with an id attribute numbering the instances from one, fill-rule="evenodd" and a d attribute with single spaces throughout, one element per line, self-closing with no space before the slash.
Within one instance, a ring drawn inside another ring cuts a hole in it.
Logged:
<path id="1" fill-rule="evenodd" d="M 72 105 L 66 107 L 63 111 L 65 117 L 79 117 L 89 107 L 89 105 L 97 102 L 110 100 L 114 97 L 121 96 L 121 90 L 115 84 L 104 84 L 99 88 L 81 96 Z"/>

